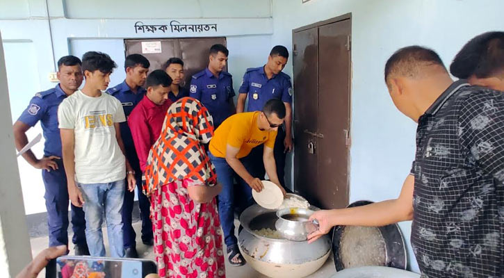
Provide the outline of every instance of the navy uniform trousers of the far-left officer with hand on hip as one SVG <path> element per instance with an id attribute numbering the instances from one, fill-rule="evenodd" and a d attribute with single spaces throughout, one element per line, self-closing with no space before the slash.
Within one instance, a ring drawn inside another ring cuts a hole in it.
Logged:
<path id="1" fill-rule="evenodd" d="M 45 186 L 45 206 L 47 208 L 47 226 L 49 227 L 49 246 L 68 245 L 68 197 L 67 174 L 61 159 L 56 160 L 57 170 L 42 170 Z M 86 245 L 86 220 L 82 208 L 70 206 L 72 213 L 72 243 Z"/>

